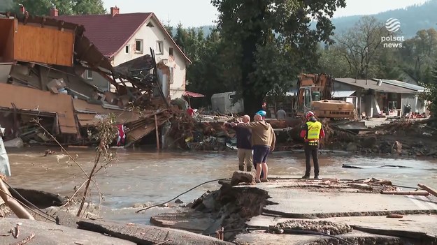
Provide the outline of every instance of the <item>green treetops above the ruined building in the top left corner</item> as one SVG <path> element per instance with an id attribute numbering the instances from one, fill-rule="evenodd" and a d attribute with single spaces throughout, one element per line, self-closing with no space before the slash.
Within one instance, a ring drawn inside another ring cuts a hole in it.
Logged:
<path id="1" fill-rule="evenodd" d="M 22 4 L 30 15 L 47 16 L 50 8 L 56 7 L 59 15 L 104 14 L 102 0 L 13 0 L 14 10 Z"/>

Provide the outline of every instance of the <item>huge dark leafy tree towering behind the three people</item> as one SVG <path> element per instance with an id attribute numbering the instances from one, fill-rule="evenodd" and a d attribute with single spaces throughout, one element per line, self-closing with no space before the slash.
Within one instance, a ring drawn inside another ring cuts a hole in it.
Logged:
<path id="1" fill-rule="evenodd" d="M 211 0 L 220 13 L 218 28 L 228 61 L 236 61 L 238 95 L 245 112 L 254 114 L 275 84 L 289 86 L 298 70 L 317 63 L 317 44 L 331 43 L 334 27 L 329 20 L 344 0 Z M 317 20 L 313 29 L 312 20 Z M 269 53 L 273 52 L 273 53 Z M 275 55 L 273 55 L 275 54 Z M 276 56 L 278 55 L 278 56 Z M 284 65 L 276 62 L 284 61 Z M 273 65 L 272 65 L 273 64 Z M 286 70 L 281 70 L 287 66 Z M 268 69 L 268 70 L 266 70 Z M 229 80 L 231 80 L 230 78 Z M 280 79 L 280 80 L 277 80 Z"/>

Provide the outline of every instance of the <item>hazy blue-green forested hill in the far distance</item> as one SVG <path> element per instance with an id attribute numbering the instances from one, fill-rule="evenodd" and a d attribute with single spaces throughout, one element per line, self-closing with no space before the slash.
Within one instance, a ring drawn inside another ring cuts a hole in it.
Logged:
<path id="1" fill-rule="evenodd" d="M 429 0 L 422 5 L 413 5 L 407 8 L 401 8 L 396 10 L 388 10 L 382 13 L 378 13 L 374 16 L 381 22 L 385 22 L 389 18 L 396 18 L 401 22 L 401 31 L 405 38 L 412 38 L 416 32 L 421 29 L 437 28 L 437 0 Z M 332 19 L 334 26 L 336 27 L 335 33 L 341 34 L 343 31 L 347 31 L 358 22 L 359 18 L 363 15 L 346 16 Z M 205 36 L 210 33 L 210 28 L 214 26 L 200 27 L 203 30 Z"/>

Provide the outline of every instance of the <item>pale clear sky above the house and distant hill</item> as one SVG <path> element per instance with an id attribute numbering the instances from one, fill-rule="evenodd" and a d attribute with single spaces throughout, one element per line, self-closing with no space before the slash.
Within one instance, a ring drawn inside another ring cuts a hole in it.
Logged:
<path id="1" fill-rule="evenodd" d="M 346 0 L 346 8 L 340 8 L 334 17 L 371 15 L 386 10 L 405 8 L 427 0 Z M 214 24 L 217 9 L 209 0 L 103 0 L 105 8 L 117 6 L 120 13 L 154 12 L 166 24 L 199 27 Z"/>

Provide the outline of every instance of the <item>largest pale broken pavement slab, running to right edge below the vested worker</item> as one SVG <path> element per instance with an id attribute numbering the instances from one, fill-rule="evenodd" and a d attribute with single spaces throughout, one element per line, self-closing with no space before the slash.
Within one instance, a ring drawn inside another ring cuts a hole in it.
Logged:
<path id="1" fill-rule="evenodd" d="M 263 188 L 264 186 L 257 186 Z M 264 207 L 265 214 L 285 218 L 327 218 L 387 214 L 436 214 L 436 203 L 424 197 L 348 192 L 309 192 L 294 188 L 264 187 L 276 205 Z"/>

